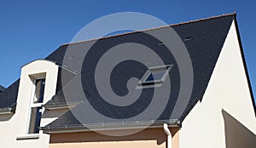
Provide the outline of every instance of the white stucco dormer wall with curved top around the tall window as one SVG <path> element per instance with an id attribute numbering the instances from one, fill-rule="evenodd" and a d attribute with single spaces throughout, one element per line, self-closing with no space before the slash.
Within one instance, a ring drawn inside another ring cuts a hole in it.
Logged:
<path id="1" fill-rule="evenodd" d="M 39 134 L 38 139 L 17 139 L 26 136 L 26 127 L 30 110 L 32 95 L 31 77 L 40 73 L 46 73 L 44 102 L 46 103 L 55 94 L 58 66 L 47 60 L 35 60 L 21 67 L 20 87 L 17 98 L 15 114 L 9 119 L 0 116 L 0 144 L 1 147 L 26 147 L 47 148 L 49 147 L 49 135 Z M 2 119 L 2 120 L 1 120 Z M 42 119 L 41 126 L 49 123 L 50 119 Z"/>

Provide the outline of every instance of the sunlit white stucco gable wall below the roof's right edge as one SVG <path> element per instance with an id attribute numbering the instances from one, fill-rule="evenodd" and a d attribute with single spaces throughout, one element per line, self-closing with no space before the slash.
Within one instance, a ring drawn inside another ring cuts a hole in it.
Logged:
<path id="1" fill-rule="evenodd" d="M 180 130 L 180 147 L 226 147 L 226 127 L 222 110 L 227 111 L 248 130 L 256 134 L 256 120 L 242 64 L 235 22 L 230 27 L 202 101 L 195 105 L 183 121 L 183 127 Z M 231 128 L 231 130 L 236 130 L 236 128 Z M 235 131 L 234 134 L 239 136 L 241 132 Z M 231 142 L 234 144 L 243 142 L 242 147 L 255 146 L 247 145 L 247 142 L 240 141 L 241 139 L 238 138 Z"/>

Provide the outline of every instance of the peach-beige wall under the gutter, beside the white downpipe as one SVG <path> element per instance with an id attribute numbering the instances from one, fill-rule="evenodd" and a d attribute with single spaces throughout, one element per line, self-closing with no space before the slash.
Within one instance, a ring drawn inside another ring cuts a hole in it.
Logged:
<path id="1" fill-rule="evenodd" d="M 179 128 L 171 128 L 171 132 L 173 135 L 172 148 L 178 148 Z M 96 132 L 51 134 L 49 143 L 50 148 L 165 148 L 166 133 L 163 128 L 148 128 L 137 134 L 119 137 L 107 136 Z"/>

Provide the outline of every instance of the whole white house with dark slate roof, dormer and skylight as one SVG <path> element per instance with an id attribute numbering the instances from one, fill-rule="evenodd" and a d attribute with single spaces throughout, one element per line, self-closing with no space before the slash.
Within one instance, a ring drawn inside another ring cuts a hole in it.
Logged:
<path id="1" fill-rule="evenodd" d="M 236 14 L 61 45 L 21 67 L 0 107 L 8 147 L 256 145 Z"/>

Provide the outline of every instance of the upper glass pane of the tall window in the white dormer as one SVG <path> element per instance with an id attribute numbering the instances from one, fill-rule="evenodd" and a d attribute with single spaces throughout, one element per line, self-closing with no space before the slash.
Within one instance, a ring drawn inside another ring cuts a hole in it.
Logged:
<path id="1" fill-rule="evenodd" d="M 45 79 L 37 79 L 35 82 L 36 90 L 34 95 L 34 103 L 43 103 L 44 100 L 44 84 Z"/>

